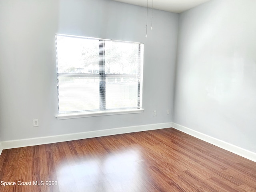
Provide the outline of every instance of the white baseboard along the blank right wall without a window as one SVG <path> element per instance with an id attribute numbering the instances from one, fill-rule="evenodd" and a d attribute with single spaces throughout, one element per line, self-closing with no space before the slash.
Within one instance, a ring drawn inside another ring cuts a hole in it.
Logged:
<path id="1" fill-rule="evenodd" d="M 256 162 L 256 153 L 254 153 L 254 152 L 251 152 L 244 148 L 240 148 L 240 147 L 230 144 L 228 142 L 224 142 L 222 140 L 216 139 L 214 137 L 208 136 L 206 134 L 200 133 L 198 131 L 192 130 L 190 128 L 184 127 L 184 126 L 176 124 L 176 123 L 172 123 L 172 127 L 175 128 L 176 130 L 182 131 L 182 132 L 189 134 L 191 136 L 194 136 L 200 140 L 206 141 L 210 144 L 218 146 L 218 147 L 225 149 L 229 152 L 232 152 L 234 154 L 237 154 L 246 159 Z"/>

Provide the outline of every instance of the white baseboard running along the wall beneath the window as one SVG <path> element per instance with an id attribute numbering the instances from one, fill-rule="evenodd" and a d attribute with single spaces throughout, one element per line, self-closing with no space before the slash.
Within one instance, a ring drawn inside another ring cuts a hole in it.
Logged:
<path id="1" fill-rule="evenodd" d="M 101 137 L 101 136 L 131 133 L 131 132 L 164 129 L 164 128 L 170 128 L 170 127 L 172 127 L 171 122 L 170 123 L 141 125 L 141 126 L 122 127 L 122 128 L 96 130 L 96 131 L 88 131 L 88 132 L 81 132 L 81 133 L 74 133 L 74 134 L 64 134 L 64 135 L 57 135 L 57 136 L 2 141 L 1 146 L 2 146 L 2 149 L 19 148 L 19 147 L 50 144 L 50 143 L 57 143 L 57 142 L 64 142 L 64 141 L 71 141 L 71 140 L 79 140 L 79 139 L 86 139 L 86 138 L 94 138 L 94 137 Z"/>

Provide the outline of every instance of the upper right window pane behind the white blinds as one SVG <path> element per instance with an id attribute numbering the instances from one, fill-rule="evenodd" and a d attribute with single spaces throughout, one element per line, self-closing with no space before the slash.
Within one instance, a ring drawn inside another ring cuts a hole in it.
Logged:
<path id="1" fill-rule="evenodd" d="M 138 74 L 139 45 L 125 42 L 105 42 L 106 74 Z"/>

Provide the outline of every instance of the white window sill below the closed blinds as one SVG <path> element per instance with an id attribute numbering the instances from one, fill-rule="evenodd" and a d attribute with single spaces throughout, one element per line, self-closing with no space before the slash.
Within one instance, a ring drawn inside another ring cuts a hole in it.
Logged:
<path id="1" fill-rule="evenodd" d="M 143 113 L 144 109 L 134 109 L 134 110 L 116 110 L 116 111 L 101 111 L 101 112 L 84 112 L 84 113 L 74 113 L 74 114 L 60 114 L 55 117 L 58 120 L 62 119 L 74 119 L 83 117 L 95 117 L 95 116 L 106 116 L 106 115 L 120 115 L 120 114 L 132 114 L 132 113 Z"/>

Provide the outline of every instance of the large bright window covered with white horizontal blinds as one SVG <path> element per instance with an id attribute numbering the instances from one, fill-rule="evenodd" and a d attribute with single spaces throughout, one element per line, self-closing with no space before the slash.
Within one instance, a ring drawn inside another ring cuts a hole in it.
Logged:
<path id="1" fill-rule="evenodd" d="M 58 116 L 142 110 L 142 43 L 56 34 L 56 66 Z"/>

